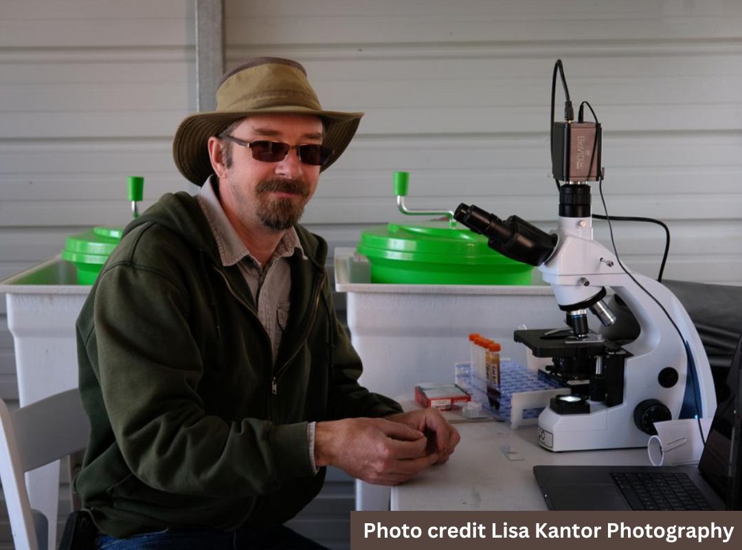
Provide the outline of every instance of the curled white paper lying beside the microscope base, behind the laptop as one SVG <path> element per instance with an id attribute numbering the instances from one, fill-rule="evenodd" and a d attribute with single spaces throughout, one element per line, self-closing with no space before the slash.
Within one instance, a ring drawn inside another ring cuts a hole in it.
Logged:
<path id="1" fill-rule="evenodd" d="M 654 466 L 681 466 L 697 464 L 703 452 L 703 440 L 709 436 L 710 418 L 700 419 L 703 439 L 697 419 L 654 422 L 657 435 L 649 438 L 647 452 Z"/>

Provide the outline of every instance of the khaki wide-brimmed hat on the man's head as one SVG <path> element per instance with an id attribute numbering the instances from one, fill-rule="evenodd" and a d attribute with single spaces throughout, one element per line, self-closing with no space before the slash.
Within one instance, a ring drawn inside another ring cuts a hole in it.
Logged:
<path id="1" fill-rule="evenodd" d="M 315 114 L 323 120 L 323 145 L 332 149 L 324 170 L 345 151 L 363 113 L 324 111 L 298 62 L 254 57 L 222 76 L 217 110 L 193 114 L 180 123 L 173 140 L 175 165 L 197 186 L 214 173 L 206 144 L 232 122 L 251 114 Z"/>

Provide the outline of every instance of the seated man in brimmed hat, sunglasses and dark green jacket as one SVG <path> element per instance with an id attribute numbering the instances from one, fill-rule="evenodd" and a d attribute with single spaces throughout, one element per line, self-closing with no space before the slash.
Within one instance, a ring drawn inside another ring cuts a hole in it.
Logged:
<path id="1" fill-rule="evenodd" d="M 358 384 L 326 243 L 298 225 L 360 117 L 322 110 L 298 63 L 261 57 L 178 128 L 200 194 L 129 224 L 77 322 L 91 441 L 75 489 L 101 548 L 317 548 L 283 523 L 324 466 L 393 485 L 453 452 L 436 410 Z"/>

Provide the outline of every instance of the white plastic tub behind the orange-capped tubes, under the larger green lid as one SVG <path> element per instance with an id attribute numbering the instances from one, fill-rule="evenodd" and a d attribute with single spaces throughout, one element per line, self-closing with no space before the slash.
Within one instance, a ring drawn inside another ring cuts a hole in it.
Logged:
<path id="1" fill-rule="evenodd" d="M 419 382 L 452 382 L 453 365 L 469 359 L 470 333 L 499 341 L 503 357 L 525 364 L 513 331 L 564 324 L 546 285 L 372 284 L 366 258 L 352 248 L 335 249 L 335 289 L 347 293 L 361 383 L 392 397 Z"/>

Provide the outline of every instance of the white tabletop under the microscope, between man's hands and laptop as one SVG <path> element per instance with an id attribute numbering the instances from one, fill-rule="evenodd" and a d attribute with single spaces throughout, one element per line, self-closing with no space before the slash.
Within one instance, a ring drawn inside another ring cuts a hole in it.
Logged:
<path id="1" fill-rule="evenodd" d="M 545 510 L 535 465 L 649 465 L 646 448 L 552 453 L 536 427 L 456 424 L 462 440 L 449 461 L 391 491 L 392 510 Z"/>

